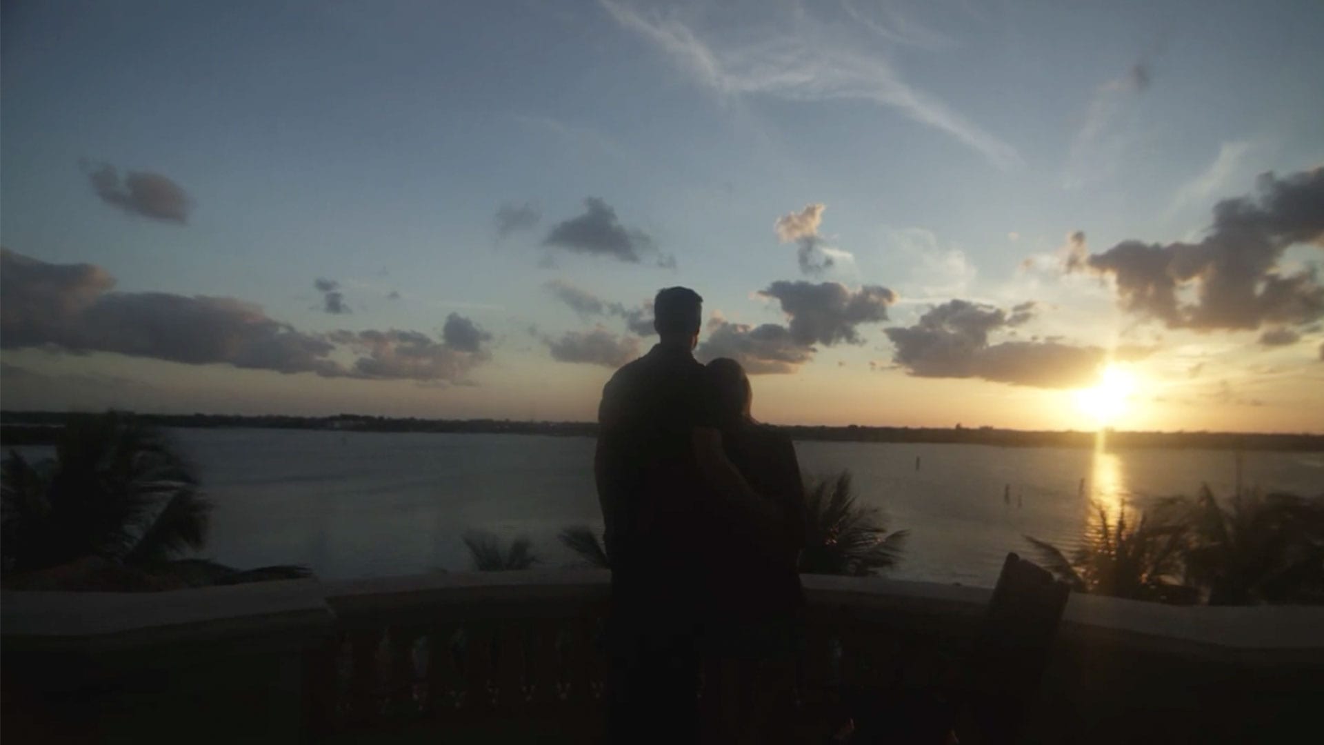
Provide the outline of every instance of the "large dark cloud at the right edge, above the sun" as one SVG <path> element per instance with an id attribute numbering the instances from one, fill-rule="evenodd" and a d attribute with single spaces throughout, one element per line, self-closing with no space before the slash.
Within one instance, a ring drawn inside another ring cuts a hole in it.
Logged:
<path id="1" fill-rule="evenodd" d="M 1067 270 L 1111 276 L 1123 309 L 1169 329 L 1309 323 L 1324 317 L 1315 269 L 1284 274 L 1278 265 L 1300 243 L 1324 245 L 1324 168 L 1283 179 L 1262 175 L 1256 196 L 1214 207 L 1213 227 L 1200 243 L 1127 240 L 1074 257 Z"/>

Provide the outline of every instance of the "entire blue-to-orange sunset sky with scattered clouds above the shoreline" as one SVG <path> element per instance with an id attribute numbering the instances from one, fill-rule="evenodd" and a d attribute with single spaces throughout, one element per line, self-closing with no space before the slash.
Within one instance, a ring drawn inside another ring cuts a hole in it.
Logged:
<path id="1" fill-rule="evenodd" d="M 0 406 L 1324 432 L 1324 5 L 7 3 Z"/>

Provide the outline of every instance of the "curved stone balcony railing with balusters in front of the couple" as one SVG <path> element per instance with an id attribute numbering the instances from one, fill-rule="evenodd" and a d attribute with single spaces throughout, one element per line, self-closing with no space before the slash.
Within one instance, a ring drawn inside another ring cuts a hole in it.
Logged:
<path id="1" fill-rule="evenodd" d="M 804 583 L 806 742 L 842 685 L 959 687 L 990 594 Z M 606 598 L 592 570 L 4 593 L 5 737 L 593 741 Z M 1074 595 L 1026 741 L 1287 741 L 1316 729 L 1321 695 L 1324 608 Z"/>

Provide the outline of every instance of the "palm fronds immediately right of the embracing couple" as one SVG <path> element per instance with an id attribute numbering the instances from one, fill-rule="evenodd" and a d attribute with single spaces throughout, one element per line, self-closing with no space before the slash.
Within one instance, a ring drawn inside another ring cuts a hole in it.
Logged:
<path id="1" fill-rule="evenodd" d="M 900 561 L 908 530 L 887 533 L 878 508 L 855 504 L 850 471 L 805 485 L 806 545 L 800 571 L 866 577 Z"/>

